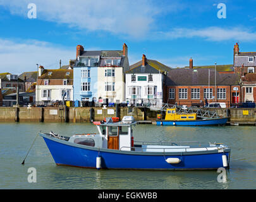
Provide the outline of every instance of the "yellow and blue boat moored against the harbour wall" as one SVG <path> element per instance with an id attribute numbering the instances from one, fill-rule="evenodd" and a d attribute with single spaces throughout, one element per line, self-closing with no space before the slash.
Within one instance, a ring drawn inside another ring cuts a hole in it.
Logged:
<path id="1" fill-rule="evenodd" d="M 164 119 L 157 119 L 157 126 L 222 126 L 228 117 L 198 119 L 197 113 L 178 113 L 176 107 L 166 109 Z"/>

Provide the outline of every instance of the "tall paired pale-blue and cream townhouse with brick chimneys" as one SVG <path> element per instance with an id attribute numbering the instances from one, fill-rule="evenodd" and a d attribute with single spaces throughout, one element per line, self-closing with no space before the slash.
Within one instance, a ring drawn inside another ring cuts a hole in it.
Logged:
<path id="1" fill-rule="evenodd" d="M 123 50 L 84 50 L 76 47 L 74 100 L 124 102 L 125 76 L 129 69 L 128 48 Z"/>

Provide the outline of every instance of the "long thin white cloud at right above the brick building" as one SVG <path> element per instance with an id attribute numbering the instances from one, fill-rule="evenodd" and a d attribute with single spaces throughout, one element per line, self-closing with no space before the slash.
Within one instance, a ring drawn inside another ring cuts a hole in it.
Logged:
<path id="1" fill-rule="evenodd" d="M 203 38 L 205 40 L 221 42 L 225 40 L 243 40 L 252 41 L 256 40 L 256 32 L 252 32 L 247 28 L 220 28 L 220 27 L 207 27 L 207 28 L 173 28 L 168 32 L 155 32 L 152 39 L 183 39 L 183 38 Z"/>

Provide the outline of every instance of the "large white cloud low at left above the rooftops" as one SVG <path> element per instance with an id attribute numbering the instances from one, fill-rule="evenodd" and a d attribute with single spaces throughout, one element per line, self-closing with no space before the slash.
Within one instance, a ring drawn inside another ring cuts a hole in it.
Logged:
<path id="1" fill-rule="evenodd" d="M 0 73 L 9 72 L 20 74 L 25 71 L 36 71 L 36 64 L 46 68 L 59 68 L 59 59 L 62 65 L 75 59 L 76 47 L 61 47 L 61 45 L 26 40 L 0 39 Z"/>

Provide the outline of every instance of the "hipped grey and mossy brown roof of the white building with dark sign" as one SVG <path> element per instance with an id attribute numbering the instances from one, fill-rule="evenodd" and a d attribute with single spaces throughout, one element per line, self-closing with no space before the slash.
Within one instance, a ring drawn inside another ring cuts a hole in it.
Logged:
<path id="1" fill-rule="evenodd" d="M 130 70 L 126 71 L 126 73 L 164 73 L 165 71 L 168 72 L 170 71 L 171 68 L 168 66 L 162 64 L 161 62 L 152 60 L 152 59 L 147 59 L 145 67 L 142 66 L 142 61 L 139 61 L 133 65 L 130 66 Z"/>

